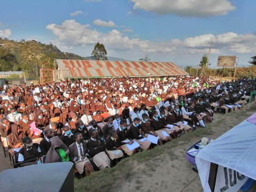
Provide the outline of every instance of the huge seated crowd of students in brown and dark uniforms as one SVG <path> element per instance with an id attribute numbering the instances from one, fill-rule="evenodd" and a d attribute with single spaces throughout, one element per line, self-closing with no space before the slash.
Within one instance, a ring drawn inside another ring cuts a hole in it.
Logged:
<path id="1" fill-rule="evenodd" d="M 214 111 L 241 109 L 255 83 L 186 76 L 0 87 L 1 140 L 21 166 L 44 156 L 45 163 L 74 162 L 88 175 L 205 127 Z"/>

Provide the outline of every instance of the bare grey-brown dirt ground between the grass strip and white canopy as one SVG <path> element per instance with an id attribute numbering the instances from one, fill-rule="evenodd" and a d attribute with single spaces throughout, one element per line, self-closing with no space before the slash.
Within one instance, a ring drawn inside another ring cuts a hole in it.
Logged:
<path id="1" fill-rule="evenodd" d="M 225 121 L 222 121 L 223 118 L 217 119 L 220 114 L 216 114 L 215 119 L 217 120 L 213 122 L 215 124 L 213 134 L 205 136 L 216 139 L 255 113 L 255 103 L 246 107 L 251 108 L 251 110 L 239 111 L 238 114 L 234 115 L 225 115 Z M 199 175 L 192 170 L 193 165 L 188 163 L 186 157 L 186 150 L 199 140 L 198 138 L 191 138 L 189 142 L 180 143 L 179 147 L 173 148 L 170 154 L 155 157 L 146 164 L 135 165 L 136 171 L 131 179 L 126 179 L 125 182 L 118 185 L 118 189 L 113 188 L 111 191 L 203 191 Z M 256 191 L 256 186 L 253 186 L 250 192 L 252 191 Z"/>

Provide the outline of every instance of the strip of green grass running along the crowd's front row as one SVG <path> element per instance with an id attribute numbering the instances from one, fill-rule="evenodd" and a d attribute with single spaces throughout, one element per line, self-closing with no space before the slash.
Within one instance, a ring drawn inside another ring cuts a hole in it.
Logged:
<path id="1" fill-rule="evenodd" d="M 137 167 L 137 165 L 145 164 L 148 167 L 148 170 L 152 169 L 151 171 L 155 171 L 154 169 L 157 167 L 157 161 L 161 156 L 169 157 L 171 161 L 178 158 L 173 153 L 173 148 L 182 146 L 186 143 L 191 143 L 193 140 L 200 140 L 202 137 L 211 137 L 214 133 L 214 129 L 224 126 L 223 122 L 225 122 L 227 118 L 230 117 L 231 119 L 234 119 L 234 117 L 236 117 L 236 121 L 229 122 L 229 124 L 225 125 L 225 129 L 229 130 L 238 124 L 237 122 L 242 122 L 247 118 L 252 111 L 255 111 L 255 102 L 247 105 L 246 109 L 221 116 L 213 123 L 207 124 L 206 128 L 199 128 L 197 131 L 186 133 L 178 139 L 167 142 L 163 146 L 157 146 L 151 150 L 143 150 L 140 153 L 134 154 L 132 157 L 125 158 L 111 169 L 95 172 L 89 177 L 80 180 L 75 179 L 75 191 L 116 191 L 115 188 L 117 185 L 124 181 L 131 181 L 134 178 L 134 174 L 138 170 L 134 170 L 133 168 Z M 225 130 L 223 132 L 225 132 Z M 191 145 L 192 144 L 193 143 L 191 143 Z M 147 170 L 142 170 L 143 174 L 146 172 Z M 147 173 L 147 175 L 149 176 L 151 174 Z M 135 182 L 137 182 L 137 180 Z M 155 184 L 158 185 L 158 183 Z M 141 183 L 135 188 L 139 190 L 141 188 Z"/>

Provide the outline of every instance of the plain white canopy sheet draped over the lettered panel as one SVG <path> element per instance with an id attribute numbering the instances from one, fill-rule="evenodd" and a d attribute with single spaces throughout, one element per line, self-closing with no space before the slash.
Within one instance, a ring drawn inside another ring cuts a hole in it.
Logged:
<path id="1" fill-rule="evenodd" d="M 254 117 L 256 113 L 250 119 Z M 247 120 L 197 154 L 195 161 L 204 191 L 211 191 L 208 183 L 211 162 L 256 180 L 256 124 Z"/>

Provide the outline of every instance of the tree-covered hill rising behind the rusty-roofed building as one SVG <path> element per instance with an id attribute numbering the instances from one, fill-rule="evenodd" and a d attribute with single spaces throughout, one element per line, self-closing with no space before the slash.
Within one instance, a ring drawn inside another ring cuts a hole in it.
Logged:
<path id="1" fill-rule="evenodd" d="M 43 44 L 35 40 L 14 41 L 0 37 L 0 71 L 25 71 L 27 77 L 39 76 L 40 68 L 54 68 L 55 59 L 85 59 L 94 60 L 93 57 L 82 57 L 68 52 L 61 52 L 57 46 Z M 109 60 L 124 60 L 108 57 Z"/>

